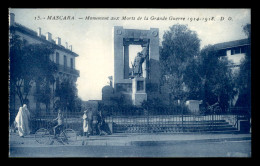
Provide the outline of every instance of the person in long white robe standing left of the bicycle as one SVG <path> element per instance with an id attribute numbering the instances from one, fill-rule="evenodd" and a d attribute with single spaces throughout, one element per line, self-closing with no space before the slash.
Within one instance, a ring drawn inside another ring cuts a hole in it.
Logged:
<path id="1" fill-rule="evenodd" d="M 20 137 L 30 134 L 29 120 L 30 112 L 26 104 L 24 104 L 23 107 L 19 108 L 19 112 L 15 118 L 16 127 Z"/>

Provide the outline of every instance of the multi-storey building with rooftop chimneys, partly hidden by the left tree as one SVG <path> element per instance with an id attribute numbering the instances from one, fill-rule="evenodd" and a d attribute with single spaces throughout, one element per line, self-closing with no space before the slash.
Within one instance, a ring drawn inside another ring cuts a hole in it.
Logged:
<path id="1" fill-rule="evenodd" d="M 42 34 L 41 28 L 39 27 L 36 31 L 27 28 L 17 22 L 15 22 L 15 15 L 10 13 L 9 16 L 9 26 L 12 28 L 12 33 L 18 35 L 22 40 L 25 40 L 28 44 L 48 44 L 54 47 L 54 53 L 49 55 L 51 61 L 57 66 L 57 72 L 54 75 L 55 82 L 51 86 L 53 92 L 53 97 L 50 101 L 50 111 L 53 111 L 54 103 L 57 100 L 55 97 L 55 89 L 58 84 L 64 80 L 70 81 L 73 86 L 76 86 L 77 78 L 79 77 L 79 71 L 76 70 L 75 61 L 79 56 L 72 51 L 72 45 L 68 45 L 65 42 L 65 46 L 61 45 L 61 38 L 56 37 L 55 40 L 50 32 Z M 34 92 L 36 90 L 36 84 L 33 86 L 28 95 L 29 104 L 28 107 L 32 111 L 44 111 L 44 105 L 42 103 L 36 102 Z M 18 111 L 21 103 L 17 95 L 10 95 L 9 108 L 10 110 Z"/>

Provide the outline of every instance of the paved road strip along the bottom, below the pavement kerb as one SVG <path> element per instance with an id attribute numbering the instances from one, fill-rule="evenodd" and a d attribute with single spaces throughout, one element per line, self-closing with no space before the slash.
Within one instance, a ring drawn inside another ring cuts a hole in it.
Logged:
<path id="1" fill-rule="evenodd" d="M 162 146 L 10 147 L 10 157 L 250 157 L 251 141 Z"/>

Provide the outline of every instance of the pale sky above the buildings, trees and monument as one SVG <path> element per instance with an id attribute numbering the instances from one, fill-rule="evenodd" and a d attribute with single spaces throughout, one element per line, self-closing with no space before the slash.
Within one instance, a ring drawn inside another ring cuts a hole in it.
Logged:
<path id="1" fill-rule="evenodd" d="M 242 29 L 251 23 L 250 9 L 10 8 L 9 12 L 15 14 L 15 22 L 35 31 L 41 27 L 42 34 L 50 32 L 53 39 L 61 38 L 63 46 L 65 42 L 72 45 L 73 52 L 79 55 L 75 61 L 75 67 L 80 71 L 78 96 L 84 101 L 100 100 L 102 88 L 108 85 L 108 76 L 114 75 L 113 26 L 140 30 L 159 28 L 161 44 L 163 34 L 170 26 L 184 24 L 197 32 L 203 48 L 208 44 L 246 38 Z M 70 16 L 74 20 L 47 20 L 48 16 Z M 85 19 L 88 16 L 108 17 L 109 20 Z M 132 19 L 122 20 L 124 16 Z M 111 20 L 112 17 L 119 19 Z M 140 49 L 140 46 L 130 47 L 130 62 Z"/>

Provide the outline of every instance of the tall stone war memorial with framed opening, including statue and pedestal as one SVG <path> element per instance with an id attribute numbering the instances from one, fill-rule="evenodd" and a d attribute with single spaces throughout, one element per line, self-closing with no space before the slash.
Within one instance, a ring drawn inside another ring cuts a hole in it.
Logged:
<path id="1" fill-rule="evenodd" d="M 115 93 L 121 93 L 133 105 L 155 97 L 159 87 L 159 29 L 150 30 L 113 28 Z M 129 45 L 140 45 L 142 51 L 135 57 L 129 71 Z"/>

